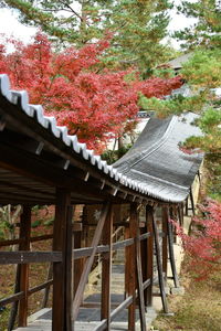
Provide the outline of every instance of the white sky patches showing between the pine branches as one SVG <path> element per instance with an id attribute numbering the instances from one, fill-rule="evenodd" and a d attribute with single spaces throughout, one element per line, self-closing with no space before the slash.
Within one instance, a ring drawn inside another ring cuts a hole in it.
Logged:
<path id="1" fill-rule="evenodd" d="M 176 4 L 180 0 L 175 1 Z M 0 33 L 7 36 L 14 35 L 17 39 L 28 43 L 36 32 L 35 28 L 30 28 L 21 24 L 18 19 L 18 13 L 14 10 L 0 8 Z M 176 10 L 171 11 L 171 22 L 168 26 L 169 32 L 180 30 L 194 23 L 196 20 L 187 19 L 182 14 L 177 14 Z M 175 40 L 171 41 L 173 47 L 179 49 L 179 43 Z"/>

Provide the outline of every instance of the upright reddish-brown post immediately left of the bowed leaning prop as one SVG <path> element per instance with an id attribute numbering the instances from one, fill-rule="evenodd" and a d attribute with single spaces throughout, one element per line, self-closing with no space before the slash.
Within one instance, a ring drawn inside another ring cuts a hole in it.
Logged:
<path id="1" fill-rule="evenodd" d="M 136 239 L 137 236 L 137 204 L 130 204 L 129 227 L 126 237 Z M 125 268 L 125 290 L 128 296 L 134 296 L 131 305 L 128 307 L 128 331 L 135 330 L 135 309 L 136 309 L 136 252 L 135 243 L 126 247 L 126 268 Z"/>

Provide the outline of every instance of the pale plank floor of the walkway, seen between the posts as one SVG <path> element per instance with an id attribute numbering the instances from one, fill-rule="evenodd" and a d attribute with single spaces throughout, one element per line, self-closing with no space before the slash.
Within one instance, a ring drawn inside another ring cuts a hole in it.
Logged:
<path id="1" fill-rule="evenodd" d="M 157 275 L 155 275 L 156 282 L 157 281 Z M 112 274 L 112 311 L 114 308 L 120 305 L 122 301 L 124 301 L 124 264 L 123 260 L 119 263 L 113 264 L 113 274 Z M 97 284 L 94 286 L 94 293 L 88 295 L 84 299 L 83 307 L 80 308 L 80 312 L 77 316 L 77 319 L 75 323 L 73 324 L 73 329 L 75 331 L 93 331 L 98 330 L 98 324 L 101 321 L 101 285 Z M 97 308 L 93 308 L 93 307 Z M 152 308 L 148 308 L 148 311 L 146 313 L 149 313 L 149 317 L 146 314 L 146 321 L 148 321 L 148 324 L 152 322 L 152 319 L 156 317 L 155 310 Z M 33 314 L 31 318 L 32 322 L 28 323 L 27 328 L 19 328 L 15 329 L 15 331 L 49 331 L 52 328 L 52 309 L 45 308 L 40 310 L 36 314 Z M 136 309 L 135 312 L 135 329 L 140 330 L 140 323 L 139 323 L 139 311 Z M 120 330 L 128 330 L 128 311 L 127 309 L 124 309 L 110 323 L 110 330 L 113 331 L 120 331 Z"/>

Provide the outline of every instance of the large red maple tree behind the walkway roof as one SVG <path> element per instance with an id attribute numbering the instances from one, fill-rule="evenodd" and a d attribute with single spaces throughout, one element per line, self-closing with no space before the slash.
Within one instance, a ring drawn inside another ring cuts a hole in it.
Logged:
<path id="1" fill-rule="evenodd" d="M 182 84 L 179 77 L 140 82 L 138 75 L 125 79 L 131 71 L 101 71 L 97 65 L 108 40 L 61 52 L 53 51 L 42 33 L 28 45 L 13 39 L 7 42 L 14 51 L 7 54 L 0 44 L 0 73 L 10 76 L 13 88 L 27 89 L 30 103 L 41 104 L 59 125 L 98 151 L 124 131 L 127 120 L 136 119 L 138 92 L 162 97 Z"/>

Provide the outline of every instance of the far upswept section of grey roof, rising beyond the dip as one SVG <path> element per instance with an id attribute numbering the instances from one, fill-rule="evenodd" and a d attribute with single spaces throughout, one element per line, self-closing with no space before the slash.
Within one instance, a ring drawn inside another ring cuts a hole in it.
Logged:
<path id="1" fill-rule="evenodd" d="M 200 135 L 191 125 L 196 115 L 150 118 L 133 148 L 114 166 L 128 178 L 145 183 L 151 196 L 183 201 L 198 171 L 202 154 L 187 154 L 179 142 Z"/>

